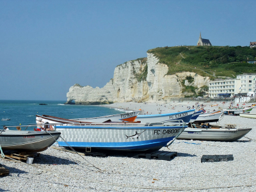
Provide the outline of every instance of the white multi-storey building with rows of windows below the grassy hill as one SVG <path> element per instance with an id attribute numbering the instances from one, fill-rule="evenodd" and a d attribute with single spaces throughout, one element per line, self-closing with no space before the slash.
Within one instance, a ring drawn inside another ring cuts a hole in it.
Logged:
<path id="1" fill-rule="evenodd" d="M 243 74 L 236 79 L 216 79 L 209 81 L 209 97 L 220 97 L 229 93 L 230 97 L 234 95 L 247 95 L 255 92 L 256 74 Z"/>

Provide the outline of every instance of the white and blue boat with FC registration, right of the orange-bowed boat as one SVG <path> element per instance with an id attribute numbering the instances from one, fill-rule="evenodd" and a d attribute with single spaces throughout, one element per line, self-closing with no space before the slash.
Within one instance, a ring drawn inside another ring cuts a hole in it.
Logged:
<path id="1" fill-rule="evenodd" d="M 186 124 L 189 123 L 195 109 L 181 111 L 177 113 L 165 113 L 157 115 L 138 115 L 136 120 L 141 123 L 168 122 L 171 120 L 183 120 Z"/>

